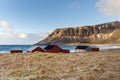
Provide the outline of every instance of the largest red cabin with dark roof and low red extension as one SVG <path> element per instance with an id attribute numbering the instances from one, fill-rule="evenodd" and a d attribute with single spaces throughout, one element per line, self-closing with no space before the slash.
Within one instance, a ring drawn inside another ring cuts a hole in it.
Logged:
<path id="1" fill-rule="evenodd" d="M 51 53 L 60 53 L 60 52 L 69 53 L 69 50 L 64 50 L 57 45 L 48 45 L 44 49 L 46 50 L 46 52 L 51 52 Z"/>

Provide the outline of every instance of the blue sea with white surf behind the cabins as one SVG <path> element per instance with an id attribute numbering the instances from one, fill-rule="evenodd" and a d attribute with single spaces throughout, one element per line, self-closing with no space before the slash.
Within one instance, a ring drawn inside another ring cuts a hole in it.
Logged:
<path id="1" fill-rule="evenodd" d="M 24 52 L 27 52 L 27 50 L 33 46 L 36 45 L 0 45 L 0 53 L 10 53 L 10 50 L 23 50 Z M 40 46 L 41 48 L 46 47 L 47 45 L 37 45 Z M 76 46 L 60 46 L 63 49 L 68 49 L 70 52 L 75 52 Z M 95 46 L 98 47 L 100 50 L 105 50 L 105 49 L 117 49 L 120 48 L 120 45 L 100 45 L 100 46 Z"/>

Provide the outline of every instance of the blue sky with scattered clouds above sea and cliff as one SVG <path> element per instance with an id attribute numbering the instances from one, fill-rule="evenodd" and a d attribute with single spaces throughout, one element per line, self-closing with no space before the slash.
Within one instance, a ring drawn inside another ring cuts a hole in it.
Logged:
<path id="1" fill-rule="evenodd" d="M 0 0 L 0 45 L 34 44 L 57 28 L 120 20 L 120 0 Z"/>

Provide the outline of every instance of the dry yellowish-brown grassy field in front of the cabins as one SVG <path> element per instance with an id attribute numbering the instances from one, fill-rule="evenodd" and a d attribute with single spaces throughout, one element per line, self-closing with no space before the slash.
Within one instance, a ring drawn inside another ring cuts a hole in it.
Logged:
<path id="1" fill-rule="evenodd" d="M 120 50 L 0 54 L 0 80 L 120 80 Z"/>

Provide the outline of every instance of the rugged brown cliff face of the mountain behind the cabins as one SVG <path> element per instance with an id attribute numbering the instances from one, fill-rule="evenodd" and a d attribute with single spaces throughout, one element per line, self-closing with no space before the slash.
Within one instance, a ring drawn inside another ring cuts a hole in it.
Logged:
<path id="1" fill-rule="evenodd" d="M 120 43 L 120 21 L 56 29 L 37 44 Z"/>

